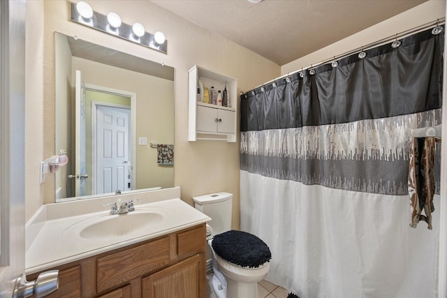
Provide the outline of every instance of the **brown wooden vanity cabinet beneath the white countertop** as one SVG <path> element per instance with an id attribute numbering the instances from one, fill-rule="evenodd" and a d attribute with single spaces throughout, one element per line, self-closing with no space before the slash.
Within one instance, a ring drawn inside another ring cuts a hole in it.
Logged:
<path id="1" fill-rule="evenodd" d="M 59 289 L 48 297 L 204 298 L 205 233 L 203 223 L 51 268 L 59 269 Z"/>

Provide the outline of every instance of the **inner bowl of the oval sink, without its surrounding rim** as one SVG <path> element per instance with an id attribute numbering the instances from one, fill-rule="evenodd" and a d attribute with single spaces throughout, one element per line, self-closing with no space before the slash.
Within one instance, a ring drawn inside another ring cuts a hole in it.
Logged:
<path id="1" fill-rule="evenodd" d="M 87 239 L 110 238 L 147 230 L 149 226 L 159 225 L 163 216 L 155 212 L 129 212 L 104 216 L 103 221 L 87 225 L 80 230 L 80 237 Z"/>

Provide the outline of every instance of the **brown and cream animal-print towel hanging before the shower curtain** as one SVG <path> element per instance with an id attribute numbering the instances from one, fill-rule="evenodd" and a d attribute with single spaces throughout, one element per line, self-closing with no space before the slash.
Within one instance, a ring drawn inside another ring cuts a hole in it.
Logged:
<path id="1" fill-rule="evenodd" d="M 413 139 L 408 175 L 411 228 L 416 228 L 418 222 L 422 220 L 427 223 L 427 228 L 432 230 L 434 153 L 434 137 L 415 137 Z"/>

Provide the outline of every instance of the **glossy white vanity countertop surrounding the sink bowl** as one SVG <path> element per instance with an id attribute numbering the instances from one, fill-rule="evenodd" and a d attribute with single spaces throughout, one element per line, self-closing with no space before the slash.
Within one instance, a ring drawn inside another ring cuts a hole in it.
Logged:
<path id="1" fill-rule="evenodd" d="M 94 218 L 110 216 L 108 215 L 109 209 L 66 217 L 50 216 L 49 218 L 45 218 L 44 221 L 40 221 L 40 223 L 36 219 L 38 216 L 36 216 L 34 221 L 38 222 L 38 224 L 27 226 L 27 229 L 29 229 L 27 231 L 28 234 L 33 234 L 33 236 L 31 240 L 28 240 L 29 244 L 27 244 L 25 273 L 31 274 L 50 269 L 68 262 L 111 251 L 115 248 L 190 228 L 193 225 L 206 223 L 211 220 L 211 218 L 178 198 L 145 204 L 135 203 L 135 211 L 133 212 L 136 214 L 151 210 L 163 214 L 163 221 L 161 223 L 148 225 L 144 229 L 138 228 L 137 223 L 135 230 L 138 231 L 132 234 L 101 237 L 101 239 L 86 239 L 80 237 L 79 230 L 83 228 L 83 223 L 87 223 L 92 219 L 96 220 Z M 127 216 L 127 214 L 114 216 Z M 27 238 L 29 239 L 29 236 Z"/>

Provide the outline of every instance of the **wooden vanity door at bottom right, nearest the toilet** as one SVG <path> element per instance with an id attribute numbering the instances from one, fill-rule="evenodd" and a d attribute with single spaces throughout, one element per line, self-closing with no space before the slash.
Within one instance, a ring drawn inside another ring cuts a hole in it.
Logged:
<path id="1" fill-rule="evenodd" d="M 142 278 L 142 297 L 205 297 L 206 275 L 205 268 L 202 268 L 204 259 L 204 254 L 200 253 Z"/>

